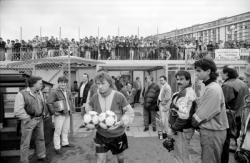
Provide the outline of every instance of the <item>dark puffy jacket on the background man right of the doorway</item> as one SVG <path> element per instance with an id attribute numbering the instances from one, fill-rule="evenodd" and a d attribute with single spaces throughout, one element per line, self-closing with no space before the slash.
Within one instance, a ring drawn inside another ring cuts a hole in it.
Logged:
<path id="1" fill-rule="evenodd" d="M 147 110 L 159 110 L 157 106 L 157 99 L 160 93 L 160 87 L 156 83 L 152 83 L 148 86 L 148 89 L 143 91 L 144 96 L 144 108 Z"/>

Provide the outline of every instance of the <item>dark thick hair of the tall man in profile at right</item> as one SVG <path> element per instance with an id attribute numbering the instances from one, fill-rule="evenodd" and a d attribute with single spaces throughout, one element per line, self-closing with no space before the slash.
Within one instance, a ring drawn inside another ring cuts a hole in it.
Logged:
<path id="1" fill-rule="evenodd" d="M 210 70 L 210 74 L 209 74 L 209 77 L 211 80 L 216 80 L 217 77 L 219 76 L 219 74 L 216 72 L 217 71 L 217 67 L 214 63 L 213 60 L 211 59 L 208 59 L 208 58 L 203 58 L 203 59 L 200 59 L 198 61 L 195 61 L 194 62 L 194 68 L 201 68 L 203 71 L 207 71 L 207 70 Z"/>

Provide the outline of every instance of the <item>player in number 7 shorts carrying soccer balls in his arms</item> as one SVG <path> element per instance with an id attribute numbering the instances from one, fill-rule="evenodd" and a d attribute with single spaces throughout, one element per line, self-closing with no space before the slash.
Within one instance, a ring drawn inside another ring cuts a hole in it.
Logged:
<path id="1" fill-rule="evenodd" d="M 93 110 L 100 114 L 110 110 L 117 116 L 117 123 L 114 126 L 108 129 L 97 127 L 95 136 L 97 163 L 106 163 L 109 150 L 116 155 L 118 163 L 123 163 L 123 151 L 128 148 L 125 129 L 132 123 L 134 111 L 126 98 L 114 90 L 112 78 L 108 73 L 99 72 L 95 77 L 95 84 L 98 86 L 98 91 L 90 99 L 87 111 Z"/>

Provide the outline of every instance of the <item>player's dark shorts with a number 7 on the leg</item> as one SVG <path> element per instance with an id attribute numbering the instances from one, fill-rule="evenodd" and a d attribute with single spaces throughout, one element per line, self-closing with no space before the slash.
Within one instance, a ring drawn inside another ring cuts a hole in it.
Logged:
<path id="1" fill-rule="evenodd" d="M 96 143 L 96 153 L 106 153 L 111 150 L 112 154 L 120 154 L 128 148 L 127 135 L 124 133 L 118 137 L 107 138 L 96 133 L 94 139 Z"/>

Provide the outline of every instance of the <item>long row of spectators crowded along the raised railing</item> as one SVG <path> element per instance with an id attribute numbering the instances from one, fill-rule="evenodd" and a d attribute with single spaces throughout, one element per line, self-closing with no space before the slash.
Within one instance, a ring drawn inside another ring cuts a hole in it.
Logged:
<path id="1" fill-rule="evenodd" d="M 95 60 L 184 60 L 214 57 L 219 48 L 249 48 L 247 41 L 203 43 L 195 39 L 157 40 L 153 37 L 108 36 L 85 37 L 76 41 L 55 37 L 35 36 L 32 40 L 0 38 L 0 61 L 18 61 L 45 57 L 72 55 Z"/>

